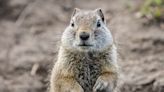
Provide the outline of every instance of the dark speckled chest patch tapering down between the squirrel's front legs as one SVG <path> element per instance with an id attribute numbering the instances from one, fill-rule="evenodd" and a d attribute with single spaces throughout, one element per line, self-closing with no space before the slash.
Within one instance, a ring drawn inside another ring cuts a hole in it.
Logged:
<path id="1" fill-rule="evenodd" d="M 75 78 L 84 89 L 84 92 L 92 92 L 93 86 L 100 75 L 101 64 L 94 60 L 81 60 L 74 67 Z"/>

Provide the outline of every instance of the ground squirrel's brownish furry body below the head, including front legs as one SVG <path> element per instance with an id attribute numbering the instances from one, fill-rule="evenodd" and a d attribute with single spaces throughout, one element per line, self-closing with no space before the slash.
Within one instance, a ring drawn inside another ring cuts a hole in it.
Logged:
<path id="1" fill-rule="evenodd" d="M 114 43 L 100 52 L 61 46 L 50 92 L 113 92 L 118 80 L 116 54 Z"/>

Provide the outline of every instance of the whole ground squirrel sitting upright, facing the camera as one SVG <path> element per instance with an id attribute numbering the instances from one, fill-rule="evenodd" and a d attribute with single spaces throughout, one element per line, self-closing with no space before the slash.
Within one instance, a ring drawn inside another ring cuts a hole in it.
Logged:
<path id="1" fill-rule="evenodd" d="M 113 92 L 117 80 L 117 51 L 102 10 L 75 8 L 62 35 L 50 92 Z"/>

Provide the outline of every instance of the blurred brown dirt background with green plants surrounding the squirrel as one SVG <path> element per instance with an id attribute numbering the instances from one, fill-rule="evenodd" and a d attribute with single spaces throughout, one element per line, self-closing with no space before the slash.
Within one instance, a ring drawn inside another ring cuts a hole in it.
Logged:
<path id="1" fill-rule="evenodd" d="M 102 8 L 121 92 L 164 92 L 164 0 L 0 0 L 0 92 L 46 92 L 73 9 Z"/>

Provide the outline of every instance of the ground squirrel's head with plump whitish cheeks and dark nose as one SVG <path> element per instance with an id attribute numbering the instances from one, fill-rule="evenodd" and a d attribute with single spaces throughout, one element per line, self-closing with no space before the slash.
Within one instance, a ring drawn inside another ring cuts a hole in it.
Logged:
<path id="1" fill-rule="evenodd" d="M 101 9 L 75 9 L 70 25 L 62 36 L 62 46 L 78 51 L 103 51 L 113 44 Z"/>

